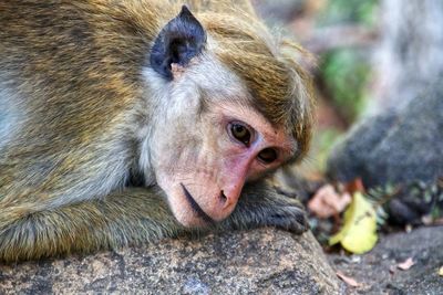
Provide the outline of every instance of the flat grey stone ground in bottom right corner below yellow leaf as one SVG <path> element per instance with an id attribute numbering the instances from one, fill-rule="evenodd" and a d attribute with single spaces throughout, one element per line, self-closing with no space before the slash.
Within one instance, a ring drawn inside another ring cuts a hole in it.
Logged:
<path id="1" fill-rule="evenodd" d="M 443 294 L 443 226 L 420 228 L 410 233 L 381 238 L 364 255 L 329 255 L 332 265 L 361 286 L 350 294 Z M 412 257 L 414 265 L 402 271 L 399 263 Z"/>

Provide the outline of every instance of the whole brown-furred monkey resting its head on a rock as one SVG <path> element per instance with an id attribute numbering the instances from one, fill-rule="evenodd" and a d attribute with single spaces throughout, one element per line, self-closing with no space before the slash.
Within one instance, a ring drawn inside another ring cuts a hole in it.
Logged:
<path id="1" fill-rule="evenodd" d="M 301 233 L 272 172 L 312 129 L 303 52 L 248 1 L 0 1 L 0 261 Z"/>

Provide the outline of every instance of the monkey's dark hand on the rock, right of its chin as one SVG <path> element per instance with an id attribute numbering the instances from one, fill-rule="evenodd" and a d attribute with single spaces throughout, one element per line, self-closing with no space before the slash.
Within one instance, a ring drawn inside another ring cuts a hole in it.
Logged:
<path id="1" fill-rule="evenodd" d="M 278 193 L 266 181 L 248 183 L 231 215 L 222 229 L 276 226 L 295 233 L 308 230 L 308 219 L 299 200 Z"/>

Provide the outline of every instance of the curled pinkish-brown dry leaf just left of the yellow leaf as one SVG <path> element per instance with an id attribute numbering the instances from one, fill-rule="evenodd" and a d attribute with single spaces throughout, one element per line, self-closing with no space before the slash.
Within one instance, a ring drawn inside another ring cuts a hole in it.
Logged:
<path id="1" fill-rule="evenodd" d="M 317 217 L 327 219 L 342 212 L 350 202 L 349 193 L 339 194 L 331 185 L 324 185 L 309 201 L 308 209 Z"/>

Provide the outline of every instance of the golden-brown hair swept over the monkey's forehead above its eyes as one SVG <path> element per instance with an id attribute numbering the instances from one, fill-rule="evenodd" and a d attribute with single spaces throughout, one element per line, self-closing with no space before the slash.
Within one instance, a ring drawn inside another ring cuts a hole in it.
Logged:
<path id="1" fill-rule="evenodd" d="M 217 55 L 245 83 L 260 113 L 272 125 L 285 126 L 302 140 L 311 126 L 312 98 L 307 75 L 295 62 L 274 56 L 265 43 L 255 43 L 254 49 L 243 44 Z"/>

